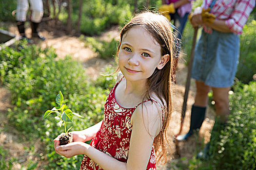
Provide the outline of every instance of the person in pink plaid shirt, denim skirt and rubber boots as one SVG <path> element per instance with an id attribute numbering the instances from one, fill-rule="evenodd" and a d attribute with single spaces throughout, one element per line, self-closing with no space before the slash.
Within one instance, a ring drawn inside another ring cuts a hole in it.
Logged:
<path id="1" fill-rule="evenodd" d="M 218 118 L 212 131 L 224 128 L 229 115 L 228 92 L 234 83 L 238 65 L 239 34 L 254 7 L 255 0 L 203 0 L 201 7 L 190 15 L 194 28 L 203 27 L 192 69 L 197 91 L 191 111 L 190 130 L 185 135 L 177 136 L 177 140 L 187 140 L 193 130 L 201 127 L 211 89 Z M 211 15 L 215 17 L 209 17 Z M 208 143 L 204 152 L 197 156 L 206 158 L 209 147 Z"/>

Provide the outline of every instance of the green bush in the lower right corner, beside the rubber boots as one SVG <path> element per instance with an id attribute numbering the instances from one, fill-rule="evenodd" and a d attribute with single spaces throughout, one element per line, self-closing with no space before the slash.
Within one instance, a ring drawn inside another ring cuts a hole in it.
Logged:
<path id="1" fill-rule="evenodd" d="M 223 130 L 211 137 L 210 159 L 193 159 L 194 170 L 256 169 L 256 82 L 234 86 L 231 114 Z"/>

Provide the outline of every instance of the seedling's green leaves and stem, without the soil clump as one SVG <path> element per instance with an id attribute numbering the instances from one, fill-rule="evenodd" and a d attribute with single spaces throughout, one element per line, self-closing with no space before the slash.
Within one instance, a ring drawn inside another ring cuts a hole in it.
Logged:
<path id="1" fill-rule="evenodd" d="M 84 118 L 82 116 L 80 116 L 79 114 L 72 112 L 72 110 L 70 110 L 68 108 L 68 106 L 63 103 L 64 97 L 61 93 L 61 91 L 59 91 L 59 94 L 56 97 L 56 103 L 58 104 L 58 106 L 54 107 L 52 110 L 47 110 L 44 113 L 43 119 L 45 119 L 47 116 L 49 116 L 51 113 L 57 113 L 57 117 L 55 117 L 55 119 L 59 120 L 59 127 L 61 127 L 62 125 L 64 125 L 64 129 L 65 129 L 65 134 L 67 136 L 68 131 L 72 128 L 72 126 L 67 130 L 66 129 L 66 122 L 72 122 L 73 119 L 73 115 L 79 117 L 79 118 Z"/>

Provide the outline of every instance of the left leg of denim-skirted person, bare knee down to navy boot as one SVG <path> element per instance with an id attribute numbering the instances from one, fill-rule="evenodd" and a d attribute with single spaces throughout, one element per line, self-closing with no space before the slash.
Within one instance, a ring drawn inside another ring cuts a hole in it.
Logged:
<path id="1" fill-rule="evenodd" d="M 191 117 L 190 117 L 190 128 L 189 132 L 185 135 L 177 136 L 178 141 L 187 140 L 190 136 L 193 135 L 193 131 L 196 129 L 200 129 L 206 111 L 206 106 L 208 103 L 208 93 L 211 89 L 210 86 L 205 85 L 204 82 L 196 81 L 197 92 L 195 103 L 191 109 Z"/>

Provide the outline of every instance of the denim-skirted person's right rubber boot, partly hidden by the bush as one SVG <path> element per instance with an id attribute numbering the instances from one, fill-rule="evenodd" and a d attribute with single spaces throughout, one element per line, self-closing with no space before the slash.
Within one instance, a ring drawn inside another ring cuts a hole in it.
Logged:
<path id="1" fill-rule="evenodd" d="M 202 151 L 197 153 L 197 159 L 202 159 L 202 160 L 208 160 L 209 159 L 209 157 L 210 157 L 210 148 L 211 148 L 212 142 L 217 142 L 217 141 L 220 140 L 219 139 L 219 133 L 220 133 L 221 130 L 223 130 L 225 128 L 225 126 L 226 126 L 225 122 L 222 122 L 219 119 L 216 119 L 216 121 L 214 123 L 214 127 L 212 129 L 210 142 L 208 142 L 205 145 L 205 147 Z"/>

